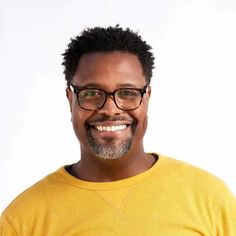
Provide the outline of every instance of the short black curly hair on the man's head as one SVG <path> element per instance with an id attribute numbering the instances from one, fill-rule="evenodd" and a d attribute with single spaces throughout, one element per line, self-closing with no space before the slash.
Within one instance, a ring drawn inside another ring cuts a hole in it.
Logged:
<path id="1" fill-rule="evenodd" d="M 85 29 L 81 35 L 71 39 L 66 51 L 62 54 L 64 74 L 67 86 L 72 82 L 79 60 L 85 53 L 122 51 L 136 55 L 142 65 L 146 83 L 150 84 L 154 56 L 150 45 L 129 28 L 95 27 Z"/>

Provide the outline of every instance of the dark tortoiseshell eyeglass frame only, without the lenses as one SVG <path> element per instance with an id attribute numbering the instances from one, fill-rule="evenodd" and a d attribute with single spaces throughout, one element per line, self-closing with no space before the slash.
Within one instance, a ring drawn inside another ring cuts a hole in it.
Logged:
<path id="1" fill-rule="evenodd" d="M 106 104 L 106 101 L 107 101 L 107 97 L 108 96 L 112 96 L 112 100 L 114 101 L 114 103 L 115 103 L 115 105 L 116 105 L 116 107 L 117 108 L 119 108 L 120 110 L 123 110 L 123 111 L 132 111 L 132 110 L 136 110 L 136 109 L 138 109 L 139 107 L 140 107 L 140 105 L 141 105 L 141 103 L 142 103 L 142 101 L 143 101 L 143 96 L 144 96 L 144 94 L 147 92 L 147 87 L 149 86 L 149 84 L 146 84 L 143 88 L 141 88 L 141 89 L 138 89 L 138 88 L 119 88 L 119 89 L 116 89 L 116 90 L 114 90 L 113 92 L 107 92 L 106 90 L 104 90 L 104 89 L 101 89 L 101 88 L 94 88 L 94 87 L 91 87 L 91 88 L 89 88 L 89 87 L 83 87 L 83 88 L 78 88 L 77 86 L 75 86 L 75 85 L 73 85 L 73 84 L 69 84 L 69 86 L 68 86 L 68 88 L 71 90 L 71 88 L 70 87 L 72 87 L 73 88 L 73 92 L 76 94 L 76 97 L 77 97 L 77 101 L 78 101 L 78 104 L 79 104 L 79 106 L 82 108 L 82 109 L 84 109 L 84 110 L 87 110 L 87 111 L 96 111 L 96 110 L 100 110 L 100 109 L 102 109 L 103 107 L 104 107 L 104 105 Z M 106 97 L 105 97 L 105 99 L 104 99 L 104 102 L 103 102 L 103 104 L 99 107 L 99 108 L 97 108 L 97 109 L 88 109 L 88 108 L 84 108 L 84 107 L 82 107 L 81 106 L 81 104 L 80 104 L 80 101 L 79 101 L 79 93 L 81 92 L 81 91 L 83 91 L 83 90 L 87 90 L 87 89 L 96 89 L 96 90 L 100 90 L 100 91 L 103 91 L 104 93 L 105 93 L 105 95 L 106 95 Z M 115 99 L 115 93 L 117 92 L 117 91 L 119 91 L 119 90 L 122 90 L 122 89 L 132 89 L 132 90 L 136 90 L 136 91 L 138 91 L 138 92 L 140 92 L 140 102 L 139 102 L 139 104 L 138 104 L 138 106 L 137 107 L 135 107 L 135 108 L 132 108 L 132 109 L 124 109 L 124 108 L 120 108 L 118 105 L 117 105 L 117 103 L 116 103 L 116 99 Z"/>

